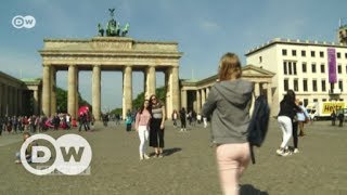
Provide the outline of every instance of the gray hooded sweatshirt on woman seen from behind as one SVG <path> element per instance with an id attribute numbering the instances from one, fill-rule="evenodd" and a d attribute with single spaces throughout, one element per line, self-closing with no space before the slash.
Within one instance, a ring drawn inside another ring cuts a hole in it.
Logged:
<path id="1" fill-rule="evenodd" d="M 236 79 L 217 82 L 208 93 L 203 115 L 211 118 L 215 144 L 247 142 L 254 83 Z"/>

